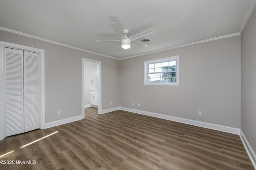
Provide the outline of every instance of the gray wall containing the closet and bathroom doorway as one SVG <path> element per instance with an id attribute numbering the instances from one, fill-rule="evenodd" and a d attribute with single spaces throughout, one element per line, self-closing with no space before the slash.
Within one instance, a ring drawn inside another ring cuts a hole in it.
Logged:
<path id="1" fill-rule="evenodd" d="M 102 110 L 119 106 L 118 60 L 1 30 L 0 40 L 45 50 L 46 123 L 81 115 L 82 57 L 102 61 Z"/>

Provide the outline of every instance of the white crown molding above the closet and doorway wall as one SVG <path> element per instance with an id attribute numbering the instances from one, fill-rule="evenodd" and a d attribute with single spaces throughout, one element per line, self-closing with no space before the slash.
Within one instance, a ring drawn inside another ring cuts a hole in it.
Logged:
<path id="1" fill-rule="evenodd" d="M 23 33 L 23 32 L 11 30 L 11 29 L 9 29 L 9 28 L 4 28 L 4 27 L 1 27 L 1 26 L 0 26 L 0 30 L 6 31 L 6 32 L 10 32 L 10 33 L 14 33 L 14 34 L 18 34 L 18 35 L 20 35 L 20 36 L 25 36 L 25 37 L 29 37 L 29 38 L 34 38 L 34 39 L 36 39 L 36 40 L 40 40 L 40 41 L 43 41 L 43 42 L 53 43 L 53 44 L 56 44 L 56 45 L 61 45 L 61 46 L 63 46 L 63 47 L 68 47 L 68 48 L 76 49 L 76 50 L 79 50 L 79 51 L 84 51 L 84 52 L 87 52 L 87 53 L 96 54 L 96 55 L 100 55 L 100 56 L 103 56 L 103 57 L 108 57 L 108 58 L 112 58 L 112 59 L 117 59 L 117 60 L 119 60 L 119 58 L 116 58 L 116 57 L 112 57 L 112 56 L 109 56 L 109 55 L 104 55 L 104 54 L 101 54 L 101 53 L 96 53 L 96 52 L 93 52 L 93 51 L 89 51 L 89 50 L 86 50 L 86 49 L 74 47 L 74 46 L 67 45 L 67 44 L 64 44 L 64 43 L 54 42 L 54 41 L 52 41 L 52 40 L 48 40 L 48 39 L 45 39 L 45 38 L 40 38 L 40 37 L 37 37 L 37 36 L 32 36 L 32 35 L 30 35 L 30 34 L 26 34 L 26 33 Z"/>

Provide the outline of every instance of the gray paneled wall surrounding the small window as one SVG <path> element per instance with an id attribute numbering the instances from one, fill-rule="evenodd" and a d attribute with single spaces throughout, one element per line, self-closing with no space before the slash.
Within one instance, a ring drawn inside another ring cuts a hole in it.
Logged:
<path id="1" fill-rule="evenodd" d="M 180 85 L 144 86 L 143 61 L 174 55 Z M 120 60 L 120 106 L 240 128 L 240 36 Z"/>

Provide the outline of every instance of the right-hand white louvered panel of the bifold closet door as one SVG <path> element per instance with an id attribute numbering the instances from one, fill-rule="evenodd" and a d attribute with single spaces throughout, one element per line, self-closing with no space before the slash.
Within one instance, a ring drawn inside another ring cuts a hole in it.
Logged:
<path id="1" fill-rule="evenodd" d="M 39 54 L 24 51 L 24 132 L 39 128 Z"/>

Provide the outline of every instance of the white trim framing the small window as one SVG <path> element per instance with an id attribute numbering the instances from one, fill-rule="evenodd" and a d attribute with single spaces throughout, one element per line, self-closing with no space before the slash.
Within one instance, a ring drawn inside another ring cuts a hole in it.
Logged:
<path id="1" fill-rule="evenodd" d="M 166 61 L 170 59 L 176 59 L 176 83 L 148 83 L 148 63 L 156 62 L 156 61 Z M 166 58 L 158 58 L 152 59 L 148 61 L 144 61 L 144 85 L 167 85 L 167 86 L 178 86 L 179 85 L 179 55 L 166 57 Z"/>

